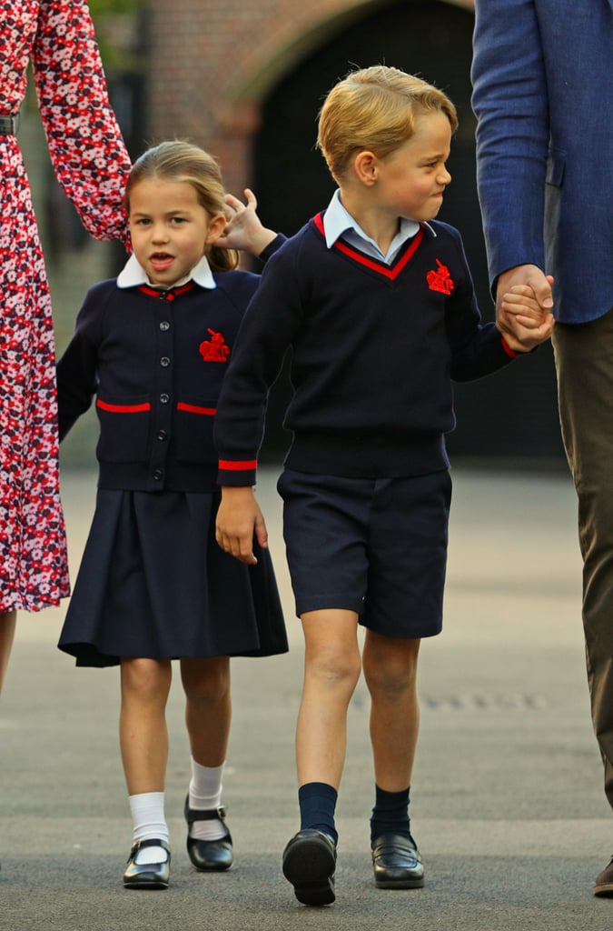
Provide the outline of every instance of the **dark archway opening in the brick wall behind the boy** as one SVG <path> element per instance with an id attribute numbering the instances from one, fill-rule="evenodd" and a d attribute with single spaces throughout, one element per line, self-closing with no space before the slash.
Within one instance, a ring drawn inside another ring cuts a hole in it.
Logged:
<path id="1" fill-rule="evenodd" d="M 475 184 L 472 33 L 472 12 L 436 0 L 399 0 L 343 26 L 300 61 L 264 102 L 262 128 L 254 141 L 254 187 L 266 223 L 287 234 L 296 232 L 326 206 L 334 190 L 314 147 L 317 112 L 327 90 L 353 67 L 381 62 L 420 74 L 444 89 L 458 109 L 460 128 L 448 164 L 453 182 L 439 219 L 460 229 L 482 314 L 491 319 Z M 271 396 L 262 451 L 269 459 L 287 448 L 287 434 L 278 425 L 288 391 L 284 372 Z M 483 382 L 457 385 L 456 411 L 458 427 L 447 440 L 452 456 L 500 462 L 562 458 L 549 346 Z"/>

